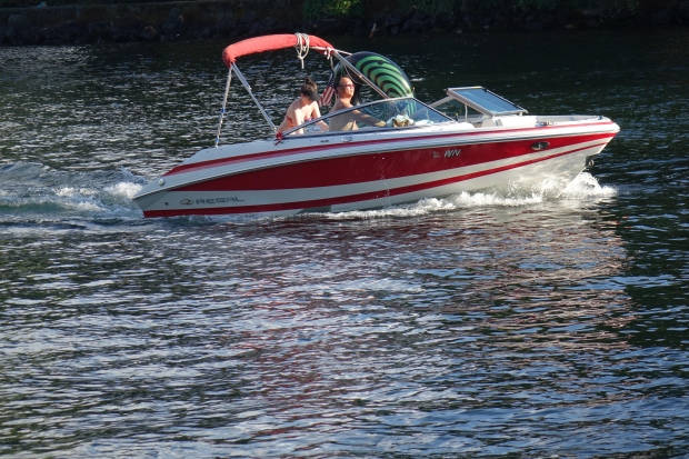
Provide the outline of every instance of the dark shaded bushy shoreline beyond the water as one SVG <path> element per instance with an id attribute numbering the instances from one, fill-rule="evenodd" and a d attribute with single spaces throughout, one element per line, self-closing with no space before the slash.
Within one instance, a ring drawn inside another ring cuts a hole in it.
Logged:
<path id="1" fill-rule="evenodd" d="M 519 2 L 516 2 L 519 3 Z M 556 2 L 557 3 L 557 2 Z M 1 3 L 0 3 L 1 4 Z M 224 38 L 270 33 L 396 36 L 478 30 L 581 30 L 612 27 L 689 27 L 689 1 L 647 1 L 630 8 L 495 8 L 457 1 L 433 13 L 395 2 L 367 3 L 349 14 L 309 11 L 290 1 L 180 1 L 0 8 L 0 44 L 64 44 Z M 475 7 L 472 7 L 472 4 Z M 561 3 L 560 3 L 561 4 Z M 600 4 L 600 2 L 599 2 Z M 313 18 L 316 17 L 316 18 Z M 304 20 L 309 18 L 310 20 Z"/>

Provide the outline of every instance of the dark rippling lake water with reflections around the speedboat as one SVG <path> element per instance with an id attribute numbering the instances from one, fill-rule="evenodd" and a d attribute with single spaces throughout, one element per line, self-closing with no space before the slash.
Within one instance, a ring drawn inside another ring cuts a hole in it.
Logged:
<path id="1" fill-rule="evenodd" d="M 683 29 L 332 38 L 621 132 L 562 193 L 144 220 L 224 42 L 0 48 L 0 455 L 689 455 Z M 273 119 L 326 60 L 240 62 Z M 233 87 L 223 142 L 268 136 Z"/>

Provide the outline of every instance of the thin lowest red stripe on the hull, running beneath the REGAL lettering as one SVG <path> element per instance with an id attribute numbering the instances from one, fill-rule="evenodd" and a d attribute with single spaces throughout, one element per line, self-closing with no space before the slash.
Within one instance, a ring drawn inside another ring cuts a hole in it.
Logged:
<path id="1" fill-rule="evenodd" d="M 571 154 L 580 150 L 586 150 L 589 148 L 600 147 L 605 144 L 607 144 L 607 142 L 601 142 L 597 146 L 588 146 L 588 147 L 577 149 L 577 150 L 569 150 L 569 151 L 561 152 L 558 154 L 552 154 L 552 156 L 545 157 L 545 158 L 523 161 L 523 162 L 519 162 L 516 164 L 503 166 L 503 167 L 499 167 L 499 168 L 495 168 L 490 170 L 467 173 L 463 176 L 457 176 L 457 177 L 451 177 L 448 179 L 435 180 L 435 181 L 425 182 L 425 183 L 416 183 L 416 184 L 410 184 L 407 187 L 399 187 L 399 188 L 389 189 L 389 190 L 379 190 L 379 191 L 341 196 L 341 197 L 327 198 L 327 199 L 313 199 L 309 201 L 280 202 L 280 203 L 274 203 L 274 204 L 221 207 L 221 208 L 212 208 L 212 209 L 151 210 L 151 211 L 144 211 L 143 216 L 147 218 L 153 218 L 153 217 L 177 217 L 177 216 L 188 216 L 188 214 L 217 216 L 217 214 L 232 214 L 232 213 L 278 212 L 278 211 L 287 211 L 287 210 L 327 207 L 327 206 L 342 204 L 342 203 L 348 203 L 348 202 L 368 201 L 372 199 L 405 194 L 405 193 L 410 193 L 415 191 L 421 191 L 425 189 L 438 188 L 438 187 L 442 187 L 446 184 L 457 183 L 457 182 L 465 181 L 465 180 L 476 179 L 479 177 L 489 176 L 491 173 L 498 173 L 498 172 L 507 171 L 510 169 L 517 169 L 520 167 L 547 161 L 553 158 L 559 158 L 562 156 Z"/>

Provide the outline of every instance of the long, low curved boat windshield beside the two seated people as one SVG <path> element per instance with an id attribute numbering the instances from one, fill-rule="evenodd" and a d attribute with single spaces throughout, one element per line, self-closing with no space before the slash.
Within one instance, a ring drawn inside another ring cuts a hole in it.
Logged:
<path id="1" fill-rule="evenodd" d="M 385 99 L 330 112 L 288 130 L 283 136 L 359 129 L 398 129 L 446 122 L 455 122 L 455 120 L 409 97 Z"/>

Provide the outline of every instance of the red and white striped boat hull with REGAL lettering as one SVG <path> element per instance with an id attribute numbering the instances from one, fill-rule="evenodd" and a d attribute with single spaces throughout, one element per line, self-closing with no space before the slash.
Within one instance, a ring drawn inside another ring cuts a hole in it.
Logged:
<path id="1" fill-rule="evenodd" d="M 375 209 L 510 182 L 567 183 L 618 130 L 608 120 L 492 133 L 392 132 L 340 141 L 314 136 L 292 144 L 264 142 L 272 148 L 263 144 L 257 152 L 247 152 L 243 148 L 251 144 L 244 144 L 231 154 L 209 151 L 172 169 L 158 184 L 162 189 L 153 182 L 134 200 L 144 217 L 274 216 Z"/>

